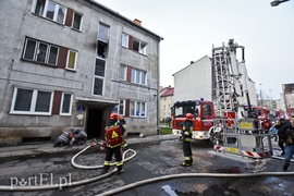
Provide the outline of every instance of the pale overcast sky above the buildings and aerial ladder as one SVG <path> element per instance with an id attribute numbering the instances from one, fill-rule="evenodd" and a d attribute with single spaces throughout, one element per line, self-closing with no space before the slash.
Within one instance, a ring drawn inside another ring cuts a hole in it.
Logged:
<path id="1" fill-rule="evenodd" d="M 262 98 L 279 99 L 282 84 L 294 83 L 294 0 L 97 0 L 163 37 L 160 85 L 233 38 L 245 47 L 249 77 Z M 191 78 L 193 81 L 193 78 Z M 261 85 L 260 85 L 261 84 Z"/>

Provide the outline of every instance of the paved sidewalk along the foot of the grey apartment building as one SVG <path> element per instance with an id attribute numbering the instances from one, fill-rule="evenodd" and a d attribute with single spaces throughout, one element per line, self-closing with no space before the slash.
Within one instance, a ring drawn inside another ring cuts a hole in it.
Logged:
<path id="1" fill-rule="evenodd" d="M 175 135 L 152 135 L 146 137 L 130 137 L 126 138 L 128 145 L 132 144 L 139 144 L 139 143 L 148 143 L 148 142 L 158 142 L 158 140 L 169 140 L 169 139 L 176 139 L 179 136 Z M 24 157 L 35 157 L 38 155 L 46 155 L 46 154 L 63 154 L 63 152 L 77 152 L 84 149 L 86 145 L 81 146 L 64 146 L 64 147 L 53 147 L 52 143 L 46 144 L 34 144 L 34 145 L 19 145 L 19 146 L 8 146 L 8 147 L 0 147 L 0 160 L 5 158 L 8 159 L 16 159 L 16 158 L 24 158 Z"/>

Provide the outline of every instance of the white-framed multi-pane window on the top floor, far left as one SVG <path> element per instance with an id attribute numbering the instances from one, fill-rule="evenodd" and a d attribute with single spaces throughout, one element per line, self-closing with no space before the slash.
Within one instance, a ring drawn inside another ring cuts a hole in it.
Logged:
<path id="1" fill-rule="evenodd" d="M 33 13 L 64 24 L 66 8 L 52 1 L 35 0 L 33 5 Z"/>

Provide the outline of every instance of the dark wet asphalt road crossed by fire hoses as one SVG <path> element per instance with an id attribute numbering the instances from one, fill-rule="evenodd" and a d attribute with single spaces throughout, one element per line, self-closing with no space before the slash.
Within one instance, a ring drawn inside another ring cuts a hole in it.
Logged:
<path id="1" fill-rule="evenodd" d="M 277 147 L 277 145 L 274 146 Z M 230 176 L 230 174 L 256 174 L 260 172 L 282 172 L 283 161 L 264 159 L 256 161 L 235 156 L 216 154 L 205 143 L 193 143 L 194 164 L 183 168 L 182 143 L 179 139 L 148 142 L 130 145 L 136 156 L 124 163 L 124 173 L 112 174 L 106 179 L 74 185 L 100 175 L 101 169 L 76 169 L 71 164 L 74 155 L 37 156 L 23 160 L 1 160 L 0 185 L 10 187 L 0 195 L 52 195 L 84 196 L 105 195 L 119 187 L 135 185 L 142 181 L 147 184 L 111 195 L 120 196 L 185 196 L 185 195 L 294 195 L 293 176 L 258 175 Z M 130 157 L 132 152 L 126 154 Z M 82 166 L 101 166 L 105 155 L 93 147 L 75 160 Z M 113 167 L 114 168 L 114 167 Z M 294 171 L 294 166 L 289 168 Z M 188 176 L 189 174 L 212 173 L 219 176 Z M 179 177 L 177 177 L 179 175 Z M 183 177 L 180 177 L 183 176 Z M 174 179 L 159 180 L 164 176 Z M 155 179 L 157 177 L 157 179 Z M 15 191 L 16 186 L 66 184 L 41 191 Z M 0 188 L 1 189 L 1 188 Z"/>

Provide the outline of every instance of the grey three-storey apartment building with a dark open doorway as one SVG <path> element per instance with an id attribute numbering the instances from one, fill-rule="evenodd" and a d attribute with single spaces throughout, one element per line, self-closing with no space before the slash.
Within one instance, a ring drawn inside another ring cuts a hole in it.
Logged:
<path id="1" fill-rule="evenodd" d="M 0 146 L 102 138 L 113 111 L 157 133 L 160 36 L 91 0 L 0 4 Z"/>

